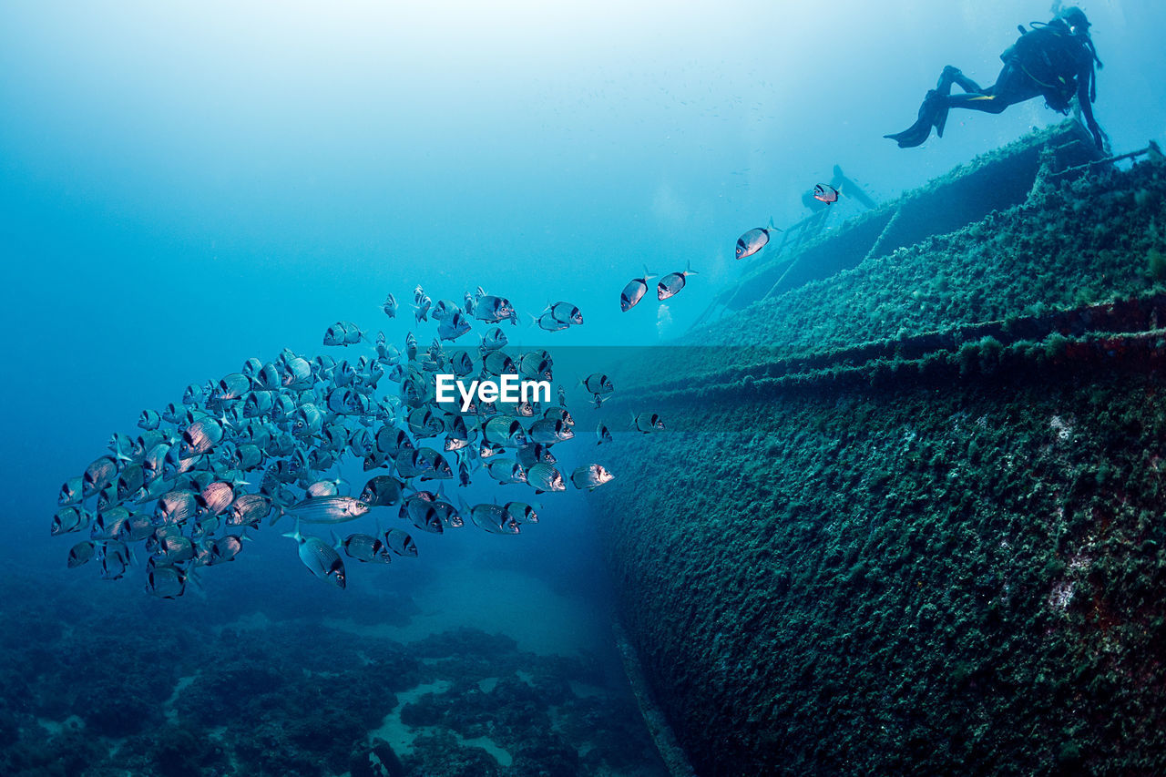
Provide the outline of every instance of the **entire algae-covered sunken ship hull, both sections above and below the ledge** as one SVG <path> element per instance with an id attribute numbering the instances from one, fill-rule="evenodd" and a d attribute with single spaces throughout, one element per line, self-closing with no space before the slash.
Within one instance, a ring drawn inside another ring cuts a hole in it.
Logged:
<path id="1" fill-rule="evenodd" d="M 669 432 L 596 504 L 697 774 L 1166 774 L 1149 156 L 624 365 Z"/>

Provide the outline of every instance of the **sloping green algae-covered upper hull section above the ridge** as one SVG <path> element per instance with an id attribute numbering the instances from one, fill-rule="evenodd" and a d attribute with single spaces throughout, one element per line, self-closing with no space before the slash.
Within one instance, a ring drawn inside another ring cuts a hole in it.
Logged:
<path id="1" fill-rule="evenodd" d="M 758 344 L 796 357 L 1040 315 L 1143 293 L 1166 276 L 1164 252 L 1164 166 L 1097 170 L 1041 184 L 1026 204 L 957 232 L 756 302 L 677 344 Z M 724 365 L 739 368 L 739 359 L 732 354 Z"/>

